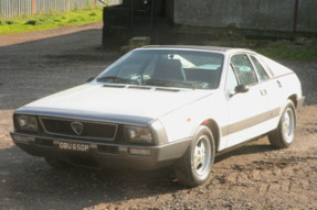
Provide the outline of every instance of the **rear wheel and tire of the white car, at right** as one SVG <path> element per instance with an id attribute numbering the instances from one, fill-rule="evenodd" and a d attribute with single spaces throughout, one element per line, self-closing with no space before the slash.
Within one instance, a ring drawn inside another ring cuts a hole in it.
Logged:
<path id="1" fill-rule="evenodd" d="M 278 148 L 288 147 L 294 141 L 295 129 L 296 109 L 293 101 L 289 100 L 282 113 L 277 129 L 268 133 L 271 145 Z"/>

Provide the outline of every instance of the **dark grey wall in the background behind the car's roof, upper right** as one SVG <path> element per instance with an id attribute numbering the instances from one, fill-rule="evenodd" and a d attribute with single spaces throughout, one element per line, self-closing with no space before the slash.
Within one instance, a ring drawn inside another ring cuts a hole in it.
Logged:
<path id="1" fill-rule="evenodd" d="M 316 33 L 316 0 L 175 0 L 173 21 L 190 26 Z"/>

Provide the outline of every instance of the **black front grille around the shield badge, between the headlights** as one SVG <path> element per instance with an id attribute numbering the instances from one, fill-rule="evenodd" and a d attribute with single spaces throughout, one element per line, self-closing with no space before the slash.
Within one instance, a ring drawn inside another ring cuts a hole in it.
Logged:
<path id="1" fill-rule="evenodd" d="M 55 118 L 40 118 L 40 122 L 44 131 L 53 135 L 113 141 L 117 133 L 117 124 L 110 123 Z M 81 132 L 76 133 L 72 123 L 82 124 Z"/>

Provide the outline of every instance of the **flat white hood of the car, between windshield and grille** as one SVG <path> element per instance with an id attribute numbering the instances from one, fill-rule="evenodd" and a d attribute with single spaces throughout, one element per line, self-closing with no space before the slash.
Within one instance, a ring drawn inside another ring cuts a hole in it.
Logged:
<path id="1" fill-rule="evenodd" d="M 114 121 L 129 119 L 131 123 L 149 123 L 211 93 L 210 90 L 86 84 L 29 103 L 21 110 L 41 114 L 95 115 Z"/>

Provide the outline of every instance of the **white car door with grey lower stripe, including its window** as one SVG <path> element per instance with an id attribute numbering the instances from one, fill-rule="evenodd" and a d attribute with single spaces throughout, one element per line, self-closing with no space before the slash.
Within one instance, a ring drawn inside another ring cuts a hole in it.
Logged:
<path id="1" fill-rule="evenodd" d="M 249 87 L 246 92 L 235 92 L 237 85 Z M 261 135 L 266 130 L 262 128 L 267 118 L 267 95 L 265 84 L 258 81 L 258 76 L 246 54 L 235 54 L 231 57 L 228 69 L 225 96 L 228 102 L 228 125 L 223 130 L 226 136 L 226 147 Z"/>

